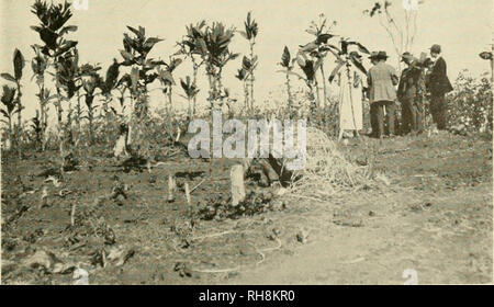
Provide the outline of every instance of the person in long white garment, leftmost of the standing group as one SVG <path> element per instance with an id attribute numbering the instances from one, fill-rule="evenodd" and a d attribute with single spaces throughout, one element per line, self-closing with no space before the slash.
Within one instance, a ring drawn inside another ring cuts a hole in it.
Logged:
<path id="1" fill-rule="evenodd" d="M 349 56 L 361 62 L 362 57 L 357 52 L 351 52 Z M 350 61 L 347 61 L 345 68 L 339 72 L 339 139 L 345 130 L 351 130 L 353 136 L 358 136 L 358 132 L 363 129 L 362 79 L 364 75 Z"/>

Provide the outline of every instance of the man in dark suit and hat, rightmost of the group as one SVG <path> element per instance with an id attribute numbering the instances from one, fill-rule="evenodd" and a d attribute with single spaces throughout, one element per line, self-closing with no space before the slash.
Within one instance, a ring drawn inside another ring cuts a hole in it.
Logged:
<path id="1" fill-rule="evenodd" d="M 446 61 L 440 56 L 441 46 L 433 45 L 430 57 L 435 60 L 429 76 L 428 89 L 430 92 L 430 114 L 437 128 L 446 129 L 446 93 L 452 91 L 451 82 L 447 76 Z"/>

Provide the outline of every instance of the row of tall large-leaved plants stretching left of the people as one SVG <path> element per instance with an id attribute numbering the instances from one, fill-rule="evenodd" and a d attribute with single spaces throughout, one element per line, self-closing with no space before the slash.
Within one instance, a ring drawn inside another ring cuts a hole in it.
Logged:
<path id="1" fill-rule="evenodd" d="M 192 76 L 180 79 L 180 87 L 183 96 L 187 99 L 188 118 L 197 114 L 197 95 L 200 91 L 198 78 L 204 72 L 209 81 L 209 107 L 210 110 L 221 107 L 226 104 L 232 109 L 234 100 L 229 98 L 229 91 L 223 86 L 223 71 L 226 65 L 240 56 L 232 52 L 232 38 L 239 33 L 249 43 L 249 52 L 243 56 L 242 65 L 237 72 L 237 78 L 244 83 L 244 110 L 254 112 L 255 109 L 255 70 L 258 65 L 258 57 L 255 54 L 256 37 L 259 32 L 257 22 L 250 12 L 244 23 L 244 30 L 237 31 L 235 27 L 227 27 L 221 22 L 207 24 L 201 21 L 186 27 L 187 33 L 177 43 L 178 52 L 169 57 L 168 61 L 150 56 L 156 44 L 161 38 L 149 36 L 142 26 L 127 26 L 128 33 L 123 34 L 123 48 L 120 49 L 120 59 L 114 58 L 105 75 L 101 75 L 101 66 L 96 64 L 79 62 L 78 42 L 68 38 L 69 34 L 77 32 L 76 25 L 68 25 L 72 16 L 71 4 L 48 3 L 36 0 L 31 7 L 40 20 L 38 25 L 31 29 L 40 35 L 40 43 L 31 47 L 34 57 L 31 59 L 31 68 L 35 83 L 38 88 L 38 110 L 32 120 L 34 140 L 44 150 L 46 148 L 46 128 L 48 123 L 49 105 L 56 110 L 57 138 L 60 158 L 74 145 L 79 145 L 82 137 L 82 129 L 88 130 L 89 144 L 94 143 L 94 123 L 102 121 L 103 133 L 110 135 L 116 129 L 119 123 L 126 123 L 131 130 L 131 138 L 136 140 L 135 146 L 139 155 L 146 155 L 148 148 L 148 135 L 146 126 L 149 121 L 149 86 L 154 82 L 161 84 L 162 93 L 167 96 L 167 111 L 171 112 L 172 90 L 176 86 L 173 70 L 184 60 L 192 62 Z M 326 26 L 326 20 L 322 19 L 319 24 L 313 23 L 307 30 L 315 36 L 315 39 L 301 46 L 296 57 L 291 58 L 290 52 L 285 47 L 280 65 L 287 73 L 288 105 L 292 105 L 292 94 L 290 89 L 290 75 L 303 79 L 307 84 L 307 91 L 312 99 L 312 111 L 321 106 L 318 78 L 315 76 L 321 71 L 324 84 L 324 96 L 326 93 L 326 82 L 324 77 L 324 58 L 328 52 L 334 55 L 344 55 L 345 50 L 328 44 L 334 37 Z M 344 42 L 344 41 L 341 41 Z M 341 43 L 344 44 L 344 43 Z M 299 75 L 293 69 L 296 61 L 303 73 Z M 23 138 L 22 117 L 22 82 L 25 59 L 19 49 L 13 56 L 14 73 L 4 72 L 1 76 L 15 84 L 15 87 L 4 86 L 2 103 L 8 126 L 8 138 L 10 144 L 15 143 L 19 155 L 22 155 L 21 139 Z M 49 87 L 52 83 L 54 87 Z M 24 78 L 25 79 L 25 78 Z M 314 95 L 314 89 L 315 95 Z M 112 107 L 112 102 L 120 102 L 120 112 Z M 82 107 L 82 103 L 86 107 Z M 83 112 L 86 109 L 86 112 Z M 125 110 L 130 110 L 124 115 Z M 98 112 L 99 111 L 99 112 Z M 13 116 L 18 115 L 16 125 L 13 124 Z M 67 117 L 64 118 L 64 114 Z M 167 133 L 170 135 L 173 127 L 169 126 Z M 110 139 L 108 139 L 110 140 Z M 63 160 L 63 159 L 61 159 Z M 63 166 L 61 166 L 63 167 Z"/>

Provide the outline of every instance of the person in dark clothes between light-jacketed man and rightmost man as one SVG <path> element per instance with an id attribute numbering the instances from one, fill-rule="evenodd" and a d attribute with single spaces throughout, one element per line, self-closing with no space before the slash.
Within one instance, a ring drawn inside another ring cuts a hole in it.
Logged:
<path id="1" fill-rule="evenodd" d="M 402 104 L 403 134 L 422 133 L 422 94 L 424 90 L 423 69 L 411 53 L 402 55 L 407 65 L 400 78 L 397 99 Z"/>

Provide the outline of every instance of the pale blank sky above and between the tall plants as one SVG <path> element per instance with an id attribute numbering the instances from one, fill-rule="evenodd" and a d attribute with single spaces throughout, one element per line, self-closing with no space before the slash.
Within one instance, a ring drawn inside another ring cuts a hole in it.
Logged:
<path id="1" fill-rule="evenodd" d="M 30 60 L 33 50 L 30 45 L 41 43 L 37 34 L 30 29 L 38 23 L 30 11 L 31 0 L 0 0 L 1 23 L 1 72 L 12 72 L 12 54 L 19 48 L 26 58 L 24 68 L 23 104 L 26 106 L 24 117 L 32 117 L 38 109 L 35 96 L 36 86 L 30 82 L 32 76 Z M 60 2 L 60 1 L 55 1 Z M 74 11 L 74 18 L 67 24 L 79 29 L 70 34 L 71 39 L 79 42 L 80 62 L 100 62 L 103 72 L 113 58 L 121 59 L 119 50 L 123 48 L 123 32 L 126 25 L 142 25 L 149 36 L 165 38 L 157 44 L 150 56 L 162 58 L 173 54 L 176 42 L 186 34 L 186 25 L 200 20 L 221 21 L 226 25 L 243 30 L 243 22 L 248 11 L 259 24 L 255 53 L 259 56 L 256 70 L 255 96 L 257 103 L 269 103 L 273 89 L 281 92 L 284 76 L 278 73 L 283 47 L 287 45 L 292 55 L 299 45 L 308 43 L 313 37 L 305 32 L 312 20 L 324 13 L 328 21 L 336 21 L 334 33 L 351 37 L 366 45 L 370 50 L 386 50 L 389 62 L 396 66 L 393 46 L 384 30 L 374 19 L 369 19 L 362 11 L 372 7 L 372 0 L 89 0 L 89 10 Z M 394 10 L 401 9 L 401 0 L 392 0 Z M 402 10 L 397 10 L 401 15 Z M 400 18 L 398 18 L 400 20 Z M 448 75 L 454 80 L 463 69 L 469 69 L 474 77 L 489 71 L 489 62 L 479 54 L 491 49 L 492 43 L 492 0 L 425 0 L 419 8 L 417 19 L 417 36 L 411 52 L 419 55 L 427 52 L 433 44 L 440 44 L 444 57 L 448 62 Z M 335 41 L 336 42 L 336 41 Z M 232 48 L 242 55 L 248 53 L 248 43 L 240 35 L 235 35 Z M 242 83 L 234 77 L 239 68 L 242 57 L 227 65 L 224 71 L 224 83 L 234 96 L 243 103 Z M 367 59 L 366 66 L 369 66 Z M 333 59 L 326 61 L 326 70 L 334 67 Z M 191 66 L 184 64 L 175 73 L 176 80 L 192 75 Z M 200 77 L 200 104 L 205 105 L 207 93 L 206 78 Z M 296 82 L 296 81 L 294 81 Z M 0 84 L 5 84 L 3 80 Z M 158 86 L 158 82 L 157 82 Z M 296 86 L 303 87 L 297 82 Z M 176 88 L 175 92 L 181 91 Z M 161 105 L 161 94 L 151 95 L 151 105 Z M 186 105 L 180 96 L 175 96 L 176 105 Z"/>

